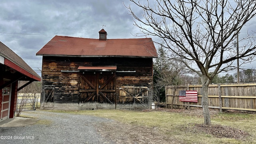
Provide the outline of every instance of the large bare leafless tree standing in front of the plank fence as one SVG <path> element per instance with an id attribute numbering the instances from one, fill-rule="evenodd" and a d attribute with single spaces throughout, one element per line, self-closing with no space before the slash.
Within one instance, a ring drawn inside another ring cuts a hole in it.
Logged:
<path id="1" fill-rule="evenodd" d="M 158 36 L 162 42 L 156 43 L 170 50 L 169 56 L 200 76 L 204 124 L 210 125 L 208 86 L 212 78 L 220 72 L 235 69 L 234 60 L 239 58 L 243 64 L 255 56 L 254 37 L 248 34 L 243 38 L 247 43 L 239 51 L 232 41 L 256 15 L 256 1 L 130 1 L 132 4 L 126 8 L 134 18 L 134 25 L 141 30 L 136 35 Z M 138 8 L 143 10 L 142 14 L 138 13 Z M 209 70 L 213 72 L 209 73 Z"/>

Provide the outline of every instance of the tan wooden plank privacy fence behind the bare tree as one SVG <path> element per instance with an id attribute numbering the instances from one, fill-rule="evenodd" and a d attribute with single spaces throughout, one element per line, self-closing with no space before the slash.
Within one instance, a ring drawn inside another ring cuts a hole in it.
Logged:
<path id="1" fill-rule="evenodd" d="M 179 101 L 179 90 L 197 90 L 198 102 Z M 166 86 L 166 108 L 202 107 L 202 85 Z M 210 84 L 209 108 L 256 111 L 256 83 Z"/>

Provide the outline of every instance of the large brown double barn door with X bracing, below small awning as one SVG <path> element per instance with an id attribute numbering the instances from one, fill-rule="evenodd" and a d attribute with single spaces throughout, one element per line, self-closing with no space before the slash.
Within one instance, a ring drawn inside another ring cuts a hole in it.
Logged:
<path id="1" fill-rule="evenodd" d="M 115 105 L 116 76 L 101 72 L 80 76 L 80 102 L 97 102 Z"/>

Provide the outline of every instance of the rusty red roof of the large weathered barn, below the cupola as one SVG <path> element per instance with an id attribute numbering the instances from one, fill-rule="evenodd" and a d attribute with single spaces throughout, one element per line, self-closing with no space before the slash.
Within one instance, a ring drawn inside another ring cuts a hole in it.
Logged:
<path id="1" fill-rule="evenodd" d="M 156 58 L 151 38 L 108 39 L 54 36 L 36 55 L 39 56 L 118 56 Z"/>

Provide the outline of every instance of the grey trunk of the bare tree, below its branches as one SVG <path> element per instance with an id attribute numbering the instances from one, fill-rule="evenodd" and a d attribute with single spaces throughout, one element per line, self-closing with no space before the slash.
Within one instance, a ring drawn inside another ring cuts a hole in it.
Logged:
<path id="1" fill-rule="evenodd" d="M 208 105 L 208 86 L 210 84 L 209 78 L 202 76 L 202 108 L 204 114 L 204 124 L 211 125 L 210 111 Z"/>

